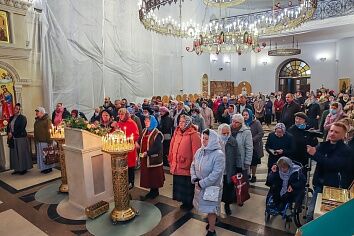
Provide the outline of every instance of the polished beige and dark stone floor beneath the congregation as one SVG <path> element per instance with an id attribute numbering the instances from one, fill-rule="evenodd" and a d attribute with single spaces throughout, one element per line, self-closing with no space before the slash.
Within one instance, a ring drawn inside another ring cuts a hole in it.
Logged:
<path id="1" fill-rule="evenodd" d="M 266 139 L 266 137 L 265 137 Z M 268 188 L 264 185 L 266 178 L 267 157 L 262 158 L 262 164 L 257 171 L 257 182 L 251 185 L 251 199 L 243 207 L 232 205 L 232 215 L 226 216 L 222 210 L 218 217 L 217 235 L 293 235 L 294 224 L 290 229 L 284 227 L 280 217 L 265 223 L 265 195 Z M 60 173 L 60 172 L 59 172 Z M 160 196 L 149 203 L 155 205 L 161 212 L 160 223 L 145 235 L 187 236 L 205 235 L 206 216 L 195 210 L 183 211 L 179 203 L 171 199 L 172 176 L 165 170 L 166 181 L 160 190 Z M 2 176 L 5 176 L 3 178 Z M 18 179 L 16 180 L 16 177 Z M 26 180 L 23 178 L 31 178 Z M 11 180 L 9 180 L 11 178 Z M 139 171 L 136 172 L 136 186 L 139 186 Z M 85 220 L 69 220 L 59 216 L 58 204 L 46 204 L 37 201 L 36 193 L 49 185 L 58 182 L 57 172 L 43 178 L 36 168 L 30 175 L 8 176 L 0 174 L 0 235 L 92 235 L 86 228 Z M 49 188 L 50 189 L 50 188 Z M 145 195 L 145 189 L 135 187 L 131 190 L 133 199 L 140 200 Z M 117 225 L 119 227 L 119 225 Z"/>

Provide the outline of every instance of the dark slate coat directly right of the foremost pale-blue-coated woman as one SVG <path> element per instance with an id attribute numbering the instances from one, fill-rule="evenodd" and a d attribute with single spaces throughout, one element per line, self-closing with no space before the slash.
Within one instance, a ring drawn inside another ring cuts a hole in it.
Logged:
<path id="1" fill-rule="evenodd" d="M 237 141 L 230 136 L 225 145 L 225 175 L 227 182 L 231 183 L 231 177 L 236 174 L 236 158 L 239 157 Z"/>

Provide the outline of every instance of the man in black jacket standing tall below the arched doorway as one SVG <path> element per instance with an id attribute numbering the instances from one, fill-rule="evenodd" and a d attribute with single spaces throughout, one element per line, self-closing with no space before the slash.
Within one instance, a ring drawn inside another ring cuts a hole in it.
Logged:
<path id="1" fill-rule="evenodd" d="M 300 111 L 300 106 L 294 101 L 294 95 L 291 93 L 285 96 L 285 100 L 286 103 L 281 112 L 280 121 L 289 129 L 295 122 L 295 113 Z"/>

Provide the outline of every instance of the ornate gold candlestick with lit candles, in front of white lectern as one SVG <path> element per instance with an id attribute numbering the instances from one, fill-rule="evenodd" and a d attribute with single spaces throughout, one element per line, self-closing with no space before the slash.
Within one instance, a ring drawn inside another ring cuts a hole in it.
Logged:
<path id="1" fill-rule="evenodd" d="M 131 220 L 138 214 L 130 206 L 128 192 L 128 153 L 133 149 L 134 144 L 128 142 L 125 133 L 121 131 L 102 138 L 102 150 L 111 156 L 115 205 L 111 212 L 111 219 L 114 223 Z"/>

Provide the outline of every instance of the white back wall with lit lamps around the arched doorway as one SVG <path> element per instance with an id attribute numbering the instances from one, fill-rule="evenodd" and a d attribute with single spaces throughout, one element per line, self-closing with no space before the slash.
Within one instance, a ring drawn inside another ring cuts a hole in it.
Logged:
<path id="1" fill-rule="evenodd" d="M 234 81 L 235 85 L 246 80 L 251 83 L 253 92 L 270 93 L 276 88 L 277 68 L 289 58 L 298 58 L 309 64 L 312 73 L 311 90 L 323 85 L 337 91 L 338 78 L 351 77 L 354 80 L 354 38 L 300 44 L 300 48 L 302 53 L 293 57 L 269 57 L 269 48 L 266 48 L 257 54 L 221 54 L 217 56 L 217 61 L 211 61 L 205 54 L 196 56 L 186 52 L 183 58 L 184 91 L 199 92 L 200 78 L 207 73 L 209 80 Z M 224 62 L 225 56 L 231 58 L 229 64 Z M 326 60 L 321 61 L 320 58 Z"/>

